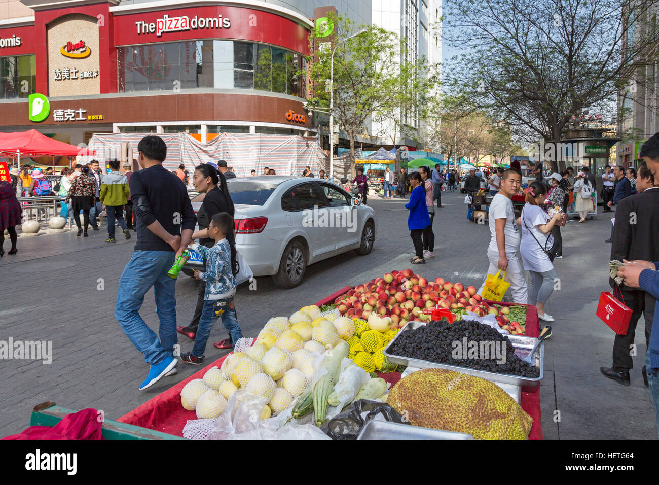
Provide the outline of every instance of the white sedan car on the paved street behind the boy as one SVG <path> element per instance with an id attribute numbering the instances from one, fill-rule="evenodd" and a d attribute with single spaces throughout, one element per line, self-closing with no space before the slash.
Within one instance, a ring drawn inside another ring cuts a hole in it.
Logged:
<path id="1" fill-rule="evenodd" d="M 355 250 L 366 255 L 376 236 L 375 211 L 331 181 L 258 176 L 227 180 L 235 206 L 236 247 L 254 276 L 281 288 L 302 282 L 306 267 Z M 196 212 L 205 194 L 192 198 Z M 203 265 L 191 251 L 185 273 Z"/>

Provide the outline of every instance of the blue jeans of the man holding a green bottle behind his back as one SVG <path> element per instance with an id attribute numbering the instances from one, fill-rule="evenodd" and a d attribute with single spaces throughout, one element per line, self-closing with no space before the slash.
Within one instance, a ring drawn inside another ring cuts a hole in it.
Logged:
<path id="1" fill-rule="evenodd" d="M 176 280 L 167 276 L 174 251 L 135 251 L 119 278 L 115 317 L 147 364 L 173 356 L 176 333 Z M 144 295 L 153 286 L 158 314 L 158 335 L 140 316 Z"/>

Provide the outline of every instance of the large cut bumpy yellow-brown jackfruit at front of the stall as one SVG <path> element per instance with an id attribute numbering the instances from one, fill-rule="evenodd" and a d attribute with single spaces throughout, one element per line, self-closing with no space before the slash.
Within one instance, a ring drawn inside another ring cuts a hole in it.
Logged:
<path id="1" fill-rule="evenodd" d="M 533 419 L 501 387 L 474 375 L 424 369 L 398 381 L 387 404 L 414 426 L 476 439 L 528 439 Z"/>

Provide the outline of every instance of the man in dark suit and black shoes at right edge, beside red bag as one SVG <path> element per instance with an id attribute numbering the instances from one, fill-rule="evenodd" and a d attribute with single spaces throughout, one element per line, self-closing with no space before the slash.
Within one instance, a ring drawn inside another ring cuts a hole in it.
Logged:
<path id="1" fill-rule="evenodd" d="M 645 167 L 644 167 L 645 168 Z M 645 169 L 647 170 L 647 169 Z M 639 173 L 641 170 L 639 170 Z M 659 187 L 649 187 L 643 193 L 621 199 L 616 210 L 616 230 L 611 248 L 611 259 L 622 261 L 659 261 Z M 609 279 L 611 287 L 614 280 Z M 633 368 L 629 355 L 634 343 L 636 325 L 643 314 L 645 318 L 645 342 L 652 332 L 652 318 L 656 300 L 638 288 L 621 286 L 624 304 L 631 308 L 631 319 L 627 334 L 616 335 L 614 340 L 613 365 L 601 367 L 600 372 L 610 379 L 629 385 L 629 370 Z M 647 382 L 645 366 L 643 380 Z M 647 383 L 646 383 L 647 385 Z"/>

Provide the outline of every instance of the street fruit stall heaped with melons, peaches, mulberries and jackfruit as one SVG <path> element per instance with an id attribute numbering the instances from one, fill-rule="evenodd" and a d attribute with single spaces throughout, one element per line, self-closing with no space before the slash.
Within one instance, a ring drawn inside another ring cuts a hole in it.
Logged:
<path id="1" fill-rule="evenodd" d="M 501 342 L 514 350 L 512 356 L 501 366 L 448 359 L 440 352 L 442 340 L 461 341 L 465 329 L 471 329 L 471 338 L 482 335 Z M 424 356 L 413 350 L 418 332 L 426 332 L 426 340 L 436 339 Z M 461 283 L 429 281 L 411 270 L 392 271 L 354 288 L 346 286 L 290 317 L 273 317 L 255 340 L 245 346 L 239 342 L 236 352 L 118 421 L 190 438 L 237 437 L 231 423 L 252 406 L 252 414 L 256 409 L 261 419 L 247 425 L 253 428 L 250 437 L 325 437 L 318 434 L 320 425 L 336 437 L 337 420 L 347 419 L 343 406 L 360 408 L 366 405 L 364 398 L 369 406 L 380 406 L 392 425 L 404 422 L 401 412 L 417 406 L 420 414 L 410 417 L 413 426 L 405 430 L 409 436 L 439 429 L 456 433 L 449 435 L 455 439 L 465 434 L 542 439 L 539 383 L 544 349 L 531 348 L 538 335 L 535 307 L 488 302 Z M 523 362 L 527 354 L 532 364 Z M 396 364 L 401 360 L 409 366 Z M 459 379 L 461 394 L 442 383 L 449 377 Z M 437 393 L 433 406 L 444 402 L 440 395 L 448 401 L 460 396 L 452 405 L 461 410 L 461 417 L 441 406 L 432 411 L 434 418 L 424 414 L 414 396 L 429 388 Z M 469 395 L 480 396 L 477 408 L 469 404 Z M 232 406 L 234 414 L 227 411 Z M 505 410 L 498 412 L 501 421 L 496 426 L 481 419 L 492 406 Z"/>

